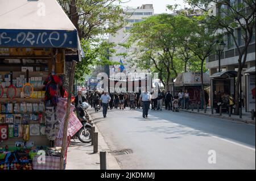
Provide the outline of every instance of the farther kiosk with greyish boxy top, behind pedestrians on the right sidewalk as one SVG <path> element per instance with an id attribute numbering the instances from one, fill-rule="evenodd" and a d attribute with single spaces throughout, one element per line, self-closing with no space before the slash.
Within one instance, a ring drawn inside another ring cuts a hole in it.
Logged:
<path id="1" fill-rule="evenodd" d="M 208 74 L 203 74 L 204 86 L 210 85 Z M 200 72 L 185 72 L 179 73 L 174 80 L 175 95 L 180 91 L 188 91 L 189 104 L 196 108 L 197 104 L 201 104 L 201 73 Z M 203 105 L 202 105 L 203 106 Z"/>

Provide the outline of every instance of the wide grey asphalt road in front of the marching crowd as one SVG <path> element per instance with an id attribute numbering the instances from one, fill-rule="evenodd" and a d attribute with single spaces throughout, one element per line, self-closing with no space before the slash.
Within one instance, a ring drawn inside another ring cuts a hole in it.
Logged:
<path id="1" fill-rule="evenodd" d="M 148 118 L 142 110 L 109 110 L 106 118 L 101 111 L 92 117 L 122 169 L 255 169 L 254 125 L 167 110 Z"/>

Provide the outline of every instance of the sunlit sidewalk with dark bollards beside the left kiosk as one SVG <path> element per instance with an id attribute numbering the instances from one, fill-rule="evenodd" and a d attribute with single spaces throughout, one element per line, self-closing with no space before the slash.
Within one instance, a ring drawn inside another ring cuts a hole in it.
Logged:
<path id="1" fill-rule="evenodd" d="M 90 120 L 90 111 L 88 111 Z M 93 120 L 92 120 L 93 123 Z M 106 164 L 108 170 L 120 170 L 117 160 L 110 154 L 104 137 L 98 131 L 95 124 L 95 131 L 98 132 L 98 153 L 93 153 L 91 142 L 84 144 L 78 139 L 71 140 L 68 147 L 66 170 L 100 170 L 100 151 L 106 151 Z"/>

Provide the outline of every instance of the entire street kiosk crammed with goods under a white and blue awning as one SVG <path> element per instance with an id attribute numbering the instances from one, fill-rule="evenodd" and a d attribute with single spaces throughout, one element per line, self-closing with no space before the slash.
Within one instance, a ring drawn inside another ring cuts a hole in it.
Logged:
<path id="1" fill-rule="evenodd" d="M 60 169 L 62 78 L 66 52 L 80 56 L 76 28 L 57 1 L 1 1 L 0 16 L 0 170 Z M 73 111 L 68 127 L 69 143 L 82 127 Z"/>

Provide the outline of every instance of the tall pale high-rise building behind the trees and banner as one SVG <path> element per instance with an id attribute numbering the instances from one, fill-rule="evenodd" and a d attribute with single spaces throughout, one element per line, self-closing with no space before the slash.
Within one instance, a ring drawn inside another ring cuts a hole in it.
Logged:
<path id="1" fill-rule="evenodd" d="M 127 40 L 130 37 L 129 30 L 133 28 L 133 23 L 141 22 L 144 20 L 144 18 L 147 18 L 149 16 L 154 15 L 154 8 L 151 4 L 142 5 L 141 7 L 137 7 L 135 9 L 128 8 L 123 10 L 124 14 L 123 16 L 126 16 L 126 26 L 123 27 L 121 30 L 119 30 L 114 36 L 109 35 L 109 42 L 113 42 L 117 44 L 117 47 L 115 47 L 116 53 L 127 53 L 127 56 L 116 56 L 113 55 L 112 57 L 109 57 L 109 60 L 111 61 L 117 61 L 122 60 L 125 69 L 123 70 L 123 73 L 134 73 L 134 72 L 140 72 L 141 70 L 137 69 L 136 66 L 132 66 L 129 64 L 129 60 L 131 55 L 133 54 L 134 49 L 136 48 L 135 45 L 132 45 L 131 48 L 126 49 L 125 47 L 122 47 L 118 45 L 119 43 L 126 43 Z M 119 65 L 115 65 L 113 68 L 110 66 L 110 77 L 114 77 L 114 74 L 118 73 Z"/>

